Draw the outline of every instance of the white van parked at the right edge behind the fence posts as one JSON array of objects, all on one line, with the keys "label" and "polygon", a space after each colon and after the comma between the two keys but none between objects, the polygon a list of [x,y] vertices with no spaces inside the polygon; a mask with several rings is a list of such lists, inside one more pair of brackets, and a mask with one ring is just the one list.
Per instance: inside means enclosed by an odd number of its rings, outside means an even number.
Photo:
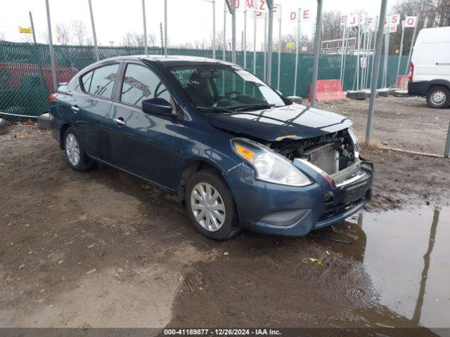
[{"label": "white van parked at the right edge behind the fence posts", "polygon": [[449,107],[450,27],[420,30],[410,67],[408,93],[426,97],[429,107]]}]

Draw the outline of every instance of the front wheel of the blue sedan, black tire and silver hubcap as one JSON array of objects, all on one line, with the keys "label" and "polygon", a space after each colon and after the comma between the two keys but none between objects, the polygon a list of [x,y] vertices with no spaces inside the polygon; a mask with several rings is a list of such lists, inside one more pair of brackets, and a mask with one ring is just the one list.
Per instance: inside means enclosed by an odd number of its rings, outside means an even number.
[{"label": "front wheel of the blue sedan, black tire and silver hubcap", "polygon": [[[203,189],[203,193],[200,192],[200,189]],[[207,195],[208,192],[212,196],[215,195],[216,199],[205,201],[203,196]],[[208,216],[208,213],[200,220],[203,223],[200,223],[195,218],[195,216],[198,218],[203,216],[202,209],[204,208],[195,206],[200,204],[206,204],[207,207],[217,206],[217,209],[209,209],[206,211],[214,216],[214,222]],[[238,212],[236,211],[233,196],[224,180],[214,170],[199,171],[189,180],[186,187],[186,211],[195,229],[210,239],[230,239],[240,230]],[[197,212],[196,215],[195,212]],[[223,220],[221,216],[223,216]]]}]

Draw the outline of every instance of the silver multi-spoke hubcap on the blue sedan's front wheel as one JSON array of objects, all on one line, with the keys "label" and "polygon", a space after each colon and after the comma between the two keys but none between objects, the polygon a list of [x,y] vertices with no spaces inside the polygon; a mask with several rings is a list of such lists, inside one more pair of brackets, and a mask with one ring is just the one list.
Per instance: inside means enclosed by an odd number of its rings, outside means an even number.
[{"label": "silver multi-spoke hubcap on the blue sedan's front wheel", "polygon": [[191,192],[191,209],[195,220],[210,232],[225,223],[225,205],[219,191],[208,183],[198,183]]}]

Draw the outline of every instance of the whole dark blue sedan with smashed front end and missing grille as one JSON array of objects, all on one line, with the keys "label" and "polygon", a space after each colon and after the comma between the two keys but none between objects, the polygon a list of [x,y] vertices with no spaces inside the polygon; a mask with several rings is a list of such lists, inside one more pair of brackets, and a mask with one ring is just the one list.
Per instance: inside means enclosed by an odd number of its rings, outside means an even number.
[{"label": "whole dark blue sedan with smashed front end and missing grille", "polygon": [[103,60],[50,96],[50,117],[72,169],[99,162],[176,192],[212,239],[241,227],[304,235],[371,199],[351,120],[291,103],[229,62]]}]

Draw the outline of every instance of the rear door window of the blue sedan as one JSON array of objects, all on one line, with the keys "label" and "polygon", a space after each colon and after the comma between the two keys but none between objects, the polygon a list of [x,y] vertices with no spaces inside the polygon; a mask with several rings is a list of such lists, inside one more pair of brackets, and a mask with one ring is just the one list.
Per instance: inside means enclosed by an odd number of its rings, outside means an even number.
[{"label": "rear door window of the blue sedan", "polygon": [[105,98],[111,98],[119,65],[105,65],[84,74],[82,86],[84,91]]}]

